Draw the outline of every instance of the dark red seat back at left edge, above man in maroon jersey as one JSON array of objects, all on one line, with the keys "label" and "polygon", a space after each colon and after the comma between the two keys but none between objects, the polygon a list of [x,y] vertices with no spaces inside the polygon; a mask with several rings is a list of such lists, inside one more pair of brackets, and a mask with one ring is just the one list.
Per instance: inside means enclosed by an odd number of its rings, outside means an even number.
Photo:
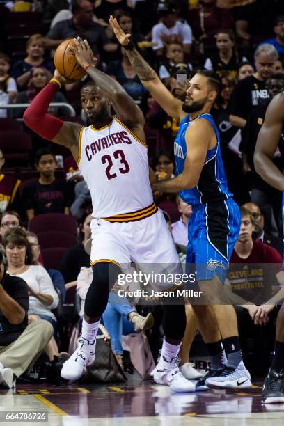
[{"label": "dark red seat back at left edge, above man in maroon jersey", "polygon": [[29,164],[31,152],[29,134],[20,130],[5,130],[0,133],[0,139],[7,167]]}]

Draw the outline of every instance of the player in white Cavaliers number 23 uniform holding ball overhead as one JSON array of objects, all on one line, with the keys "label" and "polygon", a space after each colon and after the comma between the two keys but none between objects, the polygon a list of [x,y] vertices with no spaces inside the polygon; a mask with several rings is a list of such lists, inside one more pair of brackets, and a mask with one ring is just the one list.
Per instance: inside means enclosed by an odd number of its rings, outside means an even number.
[{"label": "player in white Cavaliers number 23 uniform holding ball overhead", "polygon": [[[93,282],[85,303],[79,347],[65,362],[61,376],[76,380],[95,358],[95,338],[118,274],[135,262],[167,264],[180,271],[178,254],[161,211],[153,203],[149,181],[143,113],[118,82],[94,65],[88,42],[75,40],[77,61],[91,81],[81,89],[88,127],[49,116],[54,94],[66,81],[56,70],[24,113],[26,125],[45,139],[69,148],[77,160],[93,202],[91,265]],[[116,111],[112,116],[111,106]],[[173,284],[160,286],[168,290]],[[183,300],[182,300],[183,302]],[[174,319],[174,321],[173,321]],[[178,368],[178,352],[186,317],[184,304],[164,305],[165,338],[154,379],[176,392],[191,392],[194,384]]]}]

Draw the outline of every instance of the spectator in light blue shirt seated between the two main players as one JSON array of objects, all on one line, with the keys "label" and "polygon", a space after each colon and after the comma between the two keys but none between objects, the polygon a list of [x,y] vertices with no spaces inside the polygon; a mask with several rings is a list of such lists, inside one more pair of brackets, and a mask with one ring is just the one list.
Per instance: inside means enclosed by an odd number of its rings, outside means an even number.
[{"label": "spectator in light blue shirt seated between the two main players", "polygon": [[178,211],[181,213],[180,220],[172,223],[172,235],[175,244],[181,244],[187,247],[188,243],[188,224],[192,214],[192,207],[185,203],[180,196],[177,196]]}]

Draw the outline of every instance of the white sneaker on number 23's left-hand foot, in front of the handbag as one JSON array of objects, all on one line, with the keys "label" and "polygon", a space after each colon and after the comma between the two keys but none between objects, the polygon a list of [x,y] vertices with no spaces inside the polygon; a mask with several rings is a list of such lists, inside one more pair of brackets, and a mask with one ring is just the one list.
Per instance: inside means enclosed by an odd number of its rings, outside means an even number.
[{"label": "white sneaker on number 23's left-hand foot, in front of the handbag", "polygon": [[95,339],[90,342],[81,337],[76,351],[63,364],[61,377],[66,380],[77,380],[83,375],[86,367],[93,364],[94,361]]}]

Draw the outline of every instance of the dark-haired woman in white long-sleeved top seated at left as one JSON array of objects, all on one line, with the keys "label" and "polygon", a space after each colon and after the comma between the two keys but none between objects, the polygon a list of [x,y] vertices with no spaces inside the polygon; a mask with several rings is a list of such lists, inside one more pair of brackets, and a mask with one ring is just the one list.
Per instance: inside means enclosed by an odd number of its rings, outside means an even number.
[{"label": "dark-haired woman in white long-sleeved top seated at left", "polygon": [[[3,238],[10,276],[26,281],[29,291],[29,323],[45,319],[52,324],[56,333],[56,318],[52,313],[58,305],[58,295],[47,271],[40,265],[31,265],[33,256],[26,232],[21,228],[8,230]],[[58,356],[58,346],[52,337],[46,347],[49,360]]]}]

